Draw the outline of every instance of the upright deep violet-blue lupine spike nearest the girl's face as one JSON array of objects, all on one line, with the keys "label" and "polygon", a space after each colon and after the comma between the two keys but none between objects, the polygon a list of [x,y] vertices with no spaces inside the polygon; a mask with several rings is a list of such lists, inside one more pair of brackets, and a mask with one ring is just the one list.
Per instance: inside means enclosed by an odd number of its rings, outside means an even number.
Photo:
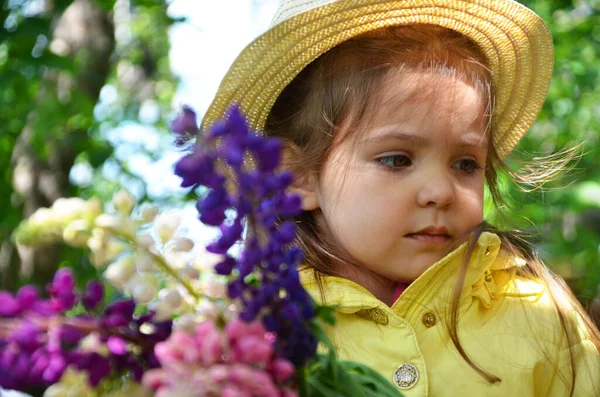
[{"label": "upright deep violet-blue lupine spike nearest the girl's face", "polygon": [[[281,151],[279,139],[250,131],[243,113],[232,107],[194,151],[177,163],[175,173],[182,178],[182,186],[209,189],[197,204],[199,217],[203,223],[220,227],[221,237],[207,250],[226,255],[215,271],[230,276],[228,295],[241,301],[240,317],[247,322],[260,319],[269,332],[277,334],[278,353],[301,365],[316,352],[311,331],[315,313],[298,277],[302,255],[293,245],[295,225],[285,221],[300,213],[301,200],[285,191],[294,176],[278,170]],[[224,166],[217,167],[217,163]],[[247,164],[255,166],[248,169]],[[226,188],[224,169],[236,182],[235,192]],[[227,216],[230,213],[235,214],[233,219]],[[236,259],[227,253],[242,238],[243,219],[247,238]],[[250,274],[260,280],[259,285],[246,282]]]}]

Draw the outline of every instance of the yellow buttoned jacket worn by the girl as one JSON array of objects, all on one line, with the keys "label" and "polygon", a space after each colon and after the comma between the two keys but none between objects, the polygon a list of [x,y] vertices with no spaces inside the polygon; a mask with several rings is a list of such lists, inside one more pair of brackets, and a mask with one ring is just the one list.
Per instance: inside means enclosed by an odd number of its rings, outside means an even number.
[{"label": "yellow buttoned jacket worn by the girl", "polygon": [[[446,319],[464,249],[425,271],[392,307],[352,281],[324,277],[325,303],[337,307],[328,332],[338,356],[369,365],[407,397],[568,396],[571,361],[555,306],[542,284],[515,275],[525,263],[501,251],[495,234],[483,233],[471,257],[458,335],[467,355],[501,381],[486,381],[455,349]],[[323,302],[314,272],[303,270],[301,280]],[[600,396],[600,355],[583,327],[577,332],[584,341],[573,346],[573,395]]]}]

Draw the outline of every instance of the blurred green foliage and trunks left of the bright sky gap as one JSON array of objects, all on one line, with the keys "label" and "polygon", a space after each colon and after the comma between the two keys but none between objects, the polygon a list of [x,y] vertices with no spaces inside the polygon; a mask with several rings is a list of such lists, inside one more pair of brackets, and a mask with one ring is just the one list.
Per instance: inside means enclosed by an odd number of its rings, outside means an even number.
[{"label": "blurred green foliage and trunks left of the bright sky gap", "polygon": [[[138,187],[138,199],[148,199],[143,179],[116,157],[106,131],[129,122],[166,135],[177,87],[168,32],[178,22],[167,15],[167,5],[0,2],[0,287],[44,283],[57,264],[89,270],[81,266],[87,261],[82,252],[57,246],[21,263],[11,235],[37,208],[68,196],[109,201],[124,183]],[[140,116],[144,107],[152,110],[150,120]],[[106,177],[108,163],[116,171]],[[87,183],[73,183],[75,165],[91,174]]]}]

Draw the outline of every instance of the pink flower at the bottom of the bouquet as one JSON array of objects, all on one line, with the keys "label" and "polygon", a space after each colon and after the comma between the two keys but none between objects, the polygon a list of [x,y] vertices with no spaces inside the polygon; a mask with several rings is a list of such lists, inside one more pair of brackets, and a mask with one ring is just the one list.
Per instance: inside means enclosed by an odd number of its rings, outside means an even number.
[{"label": "pink flower at the bottom of the bouquet", "polygon": [[275,340],[260,323],[230,321],[220,330],[212,321],[193,335],[176,331],[154,351],[161,368],[142,383],[156,396],[295,397],[285,382],[294,366],[274,354]]}]

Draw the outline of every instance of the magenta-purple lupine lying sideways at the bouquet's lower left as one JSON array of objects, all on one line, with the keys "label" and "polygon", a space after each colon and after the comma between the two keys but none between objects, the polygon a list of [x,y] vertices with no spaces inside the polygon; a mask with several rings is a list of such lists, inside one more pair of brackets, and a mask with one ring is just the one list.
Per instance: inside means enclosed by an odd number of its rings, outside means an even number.
[{"label": "magenta-purple lupine lying sideways at the bouquet's lower left", "polygon": [[[98,282],[88,283],[82,298],[83,306],[98,314],[65,317],[77,297],[68,269],[60,269],[47,290],[49,299],[40,297],[32,286],[21,288],[15,296],[0,291],[0,303],[6,308],[11,305],[0,321],[0,387],[23,391],[47,387],[58,382],[69,365],[86,371],[91,386],[111,373],[141,380],[145,370],[159,364],[154,346],[169,337],[171,321],[155,322],[152,312],[135,315],[132,300],[98,310],[104,296]],[[146,324],[154,329],[150,335],[141,332]],[[91,333],[108,347],[107,356],[81,348],[80,342]]]}]

